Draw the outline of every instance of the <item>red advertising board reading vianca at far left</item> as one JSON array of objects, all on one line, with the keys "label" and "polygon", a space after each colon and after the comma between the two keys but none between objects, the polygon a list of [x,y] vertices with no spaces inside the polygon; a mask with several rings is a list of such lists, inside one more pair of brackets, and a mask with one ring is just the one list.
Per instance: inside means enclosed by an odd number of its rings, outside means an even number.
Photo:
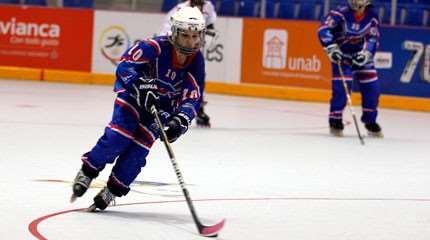
[{"label": "red advertising board reading vianca at far left", "polygon": [[91,71],[93,11],[0,7],[0,65]]}]

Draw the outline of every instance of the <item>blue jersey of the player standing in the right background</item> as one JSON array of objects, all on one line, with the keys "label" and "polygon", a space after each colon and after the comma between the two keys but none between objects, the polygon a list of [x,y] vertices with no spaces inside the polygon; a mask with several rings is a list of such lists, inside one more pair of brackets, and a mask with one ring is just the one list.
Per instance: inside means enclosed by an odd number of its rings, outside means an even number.
[{"label": "blue jersey of the player standing in the right background", "polygon": [[318,37],[324,47],[338,44],[346,56],[361,50],[374,54],[379,45],[378,16],[371,6],[360,18],[354,16],[354,11],[348,6],[331,10],[323,19]]}]

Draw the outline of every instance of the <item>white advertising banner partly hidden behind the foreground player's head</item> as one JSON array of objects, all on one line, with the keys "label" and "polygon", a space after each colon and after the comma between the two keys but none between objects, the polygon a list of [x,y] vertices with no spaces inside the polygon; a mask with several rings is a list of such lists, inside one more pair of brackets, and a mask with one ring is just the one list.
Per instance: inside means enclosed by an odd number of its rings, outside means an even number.
[{"label": "white advertising banner partly hidden behind the foreground player's head", "polygon": [[[113,74],[122,54],[136,41],[155,36],[164,14],[96,11],[92,72]],[[208,81],[235,82],[240,78],[242,20],[219,18],[217,36],[203,49]]]}]

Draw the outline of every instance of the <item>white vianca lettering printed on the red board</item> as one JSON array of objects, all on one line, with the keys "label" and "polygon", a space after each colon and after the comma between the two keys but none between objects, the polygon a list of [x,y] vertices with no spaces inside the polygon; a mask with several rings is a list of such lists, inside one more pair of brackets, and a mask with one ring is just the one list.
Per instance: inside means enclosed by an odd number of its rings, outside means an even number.
[{"label": "white vianca lettering printed on the red board", "polygon": [[17,21],[14,17],[8,21],[0,20],[1,35],[59,38],[60,32],[61,27],[57,24]]}]

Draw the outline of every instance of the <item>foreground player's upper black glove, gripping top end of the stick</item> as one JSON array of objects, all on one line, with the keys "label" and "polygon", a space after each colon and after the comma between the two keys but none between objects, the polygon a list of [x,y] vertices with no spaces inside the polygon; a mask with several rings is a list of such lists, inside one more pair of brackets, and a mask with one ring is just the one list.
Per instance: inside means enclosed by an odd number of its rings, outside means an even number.
[{"label": "foreground player's upper black glove, gripping top end of the stick", "polygon": [[158,86],[155,84],[155,79],[139,78],[133,84],[134,95],[137,105],[144,108],[146,111],[151,112],[151,107],[155,106],[157,109],[160,107],[160,98],[158,97]]}]

